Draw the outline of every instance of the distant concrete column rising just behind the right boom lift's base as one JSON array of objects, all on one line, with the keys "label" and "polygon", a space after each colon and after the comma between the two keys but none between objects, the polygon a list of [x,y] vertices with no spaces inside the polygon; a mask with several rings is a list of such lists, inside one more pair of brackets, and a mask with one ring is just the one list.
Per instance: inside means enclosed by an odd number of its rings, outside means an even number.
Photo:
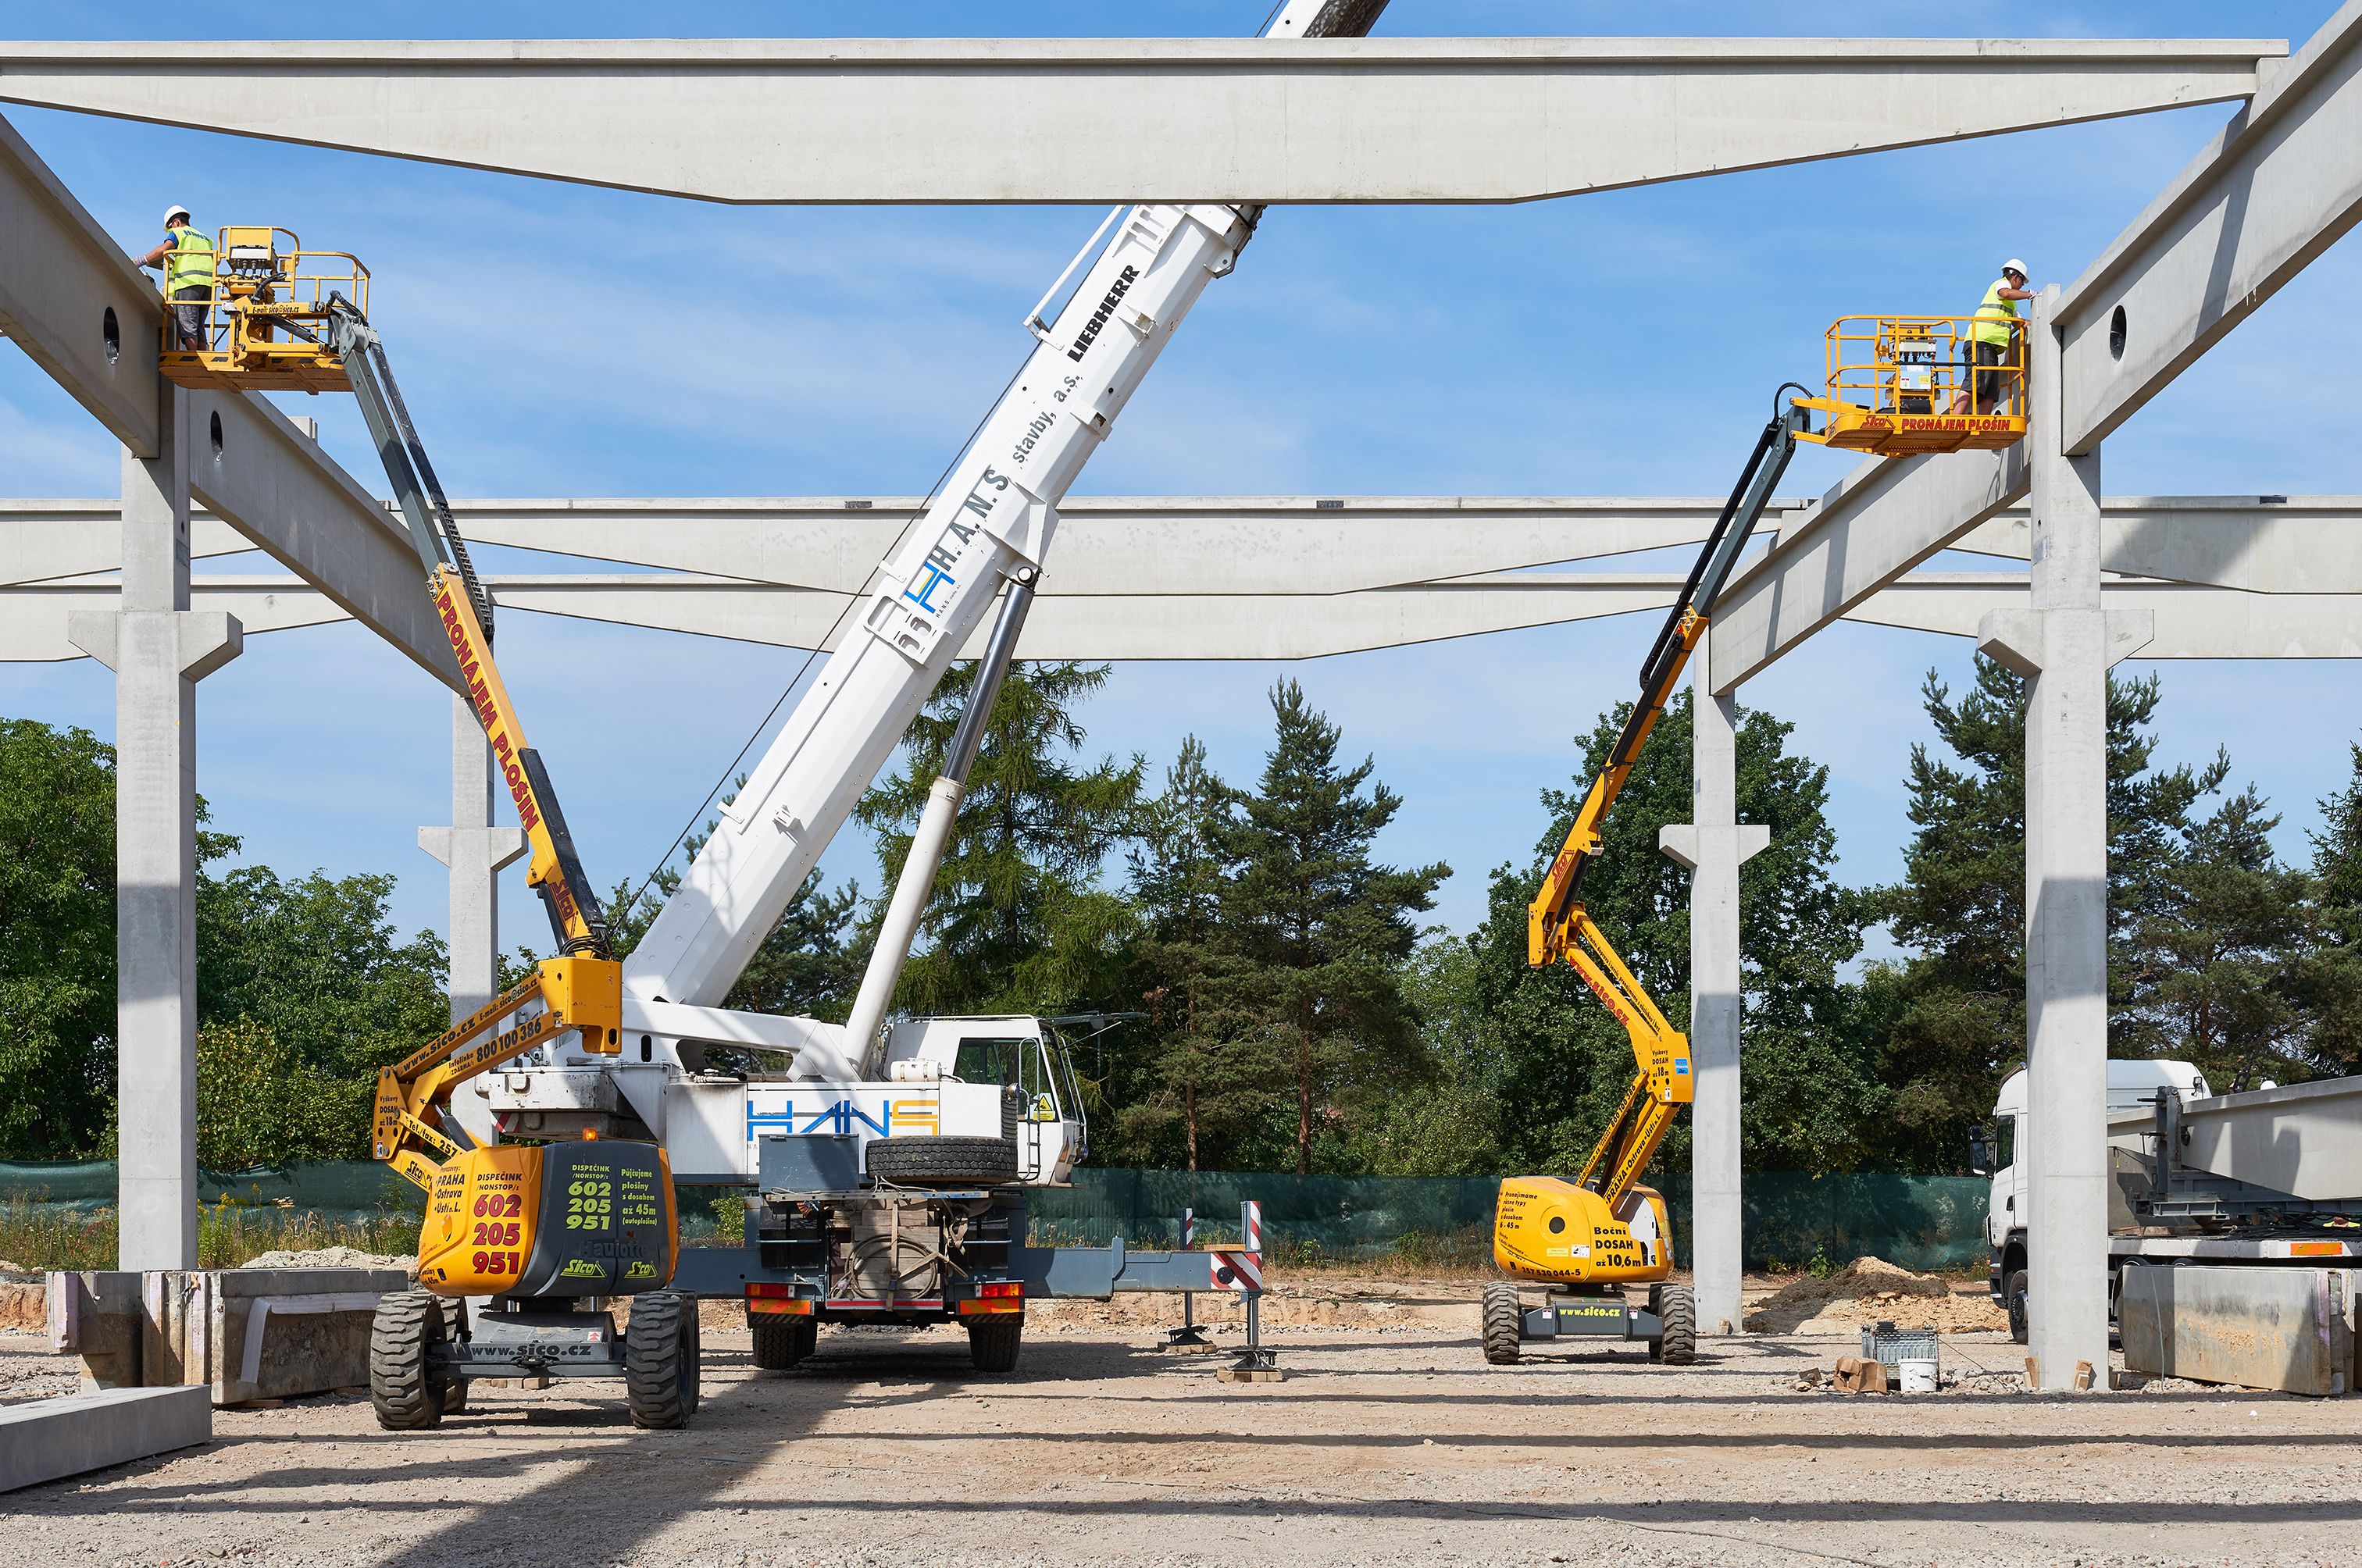
[{"label": "distant concrete column rising just behind the right boom lift's base", "polygon": [[[1712,635],[1712,633],[1708,633]],[[1658,829],[1689,869],[1689,1252],[1698,1329],[1738,1327],[1738,867],[1772,829],[1738,822],[1738,699],[1705,692],[1705,640],[1691,654],[1691,817]]]}]

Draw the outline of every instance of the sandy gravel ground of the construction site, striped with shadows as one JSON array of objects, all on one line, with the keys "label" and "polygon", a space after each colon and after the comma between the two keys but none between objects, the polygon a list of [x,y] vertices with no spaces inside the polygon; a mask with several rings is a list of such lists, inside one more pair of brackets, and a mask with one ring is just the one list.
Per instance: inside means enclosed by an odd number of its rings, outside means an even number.
[{"label": "sandy gravel ground of the construction site, striped with shadows", "polygon": [[[711,1304],[687,1431],[633,1431],[619,1386],[565,1381],[477,1384],[430,1433],[378,1431],[357,1393],[222,1410],[205,1448],[0,1500],[5,1561],[2362,1561],[2343,1398],[2036,1396],[2003,1332],[1944,1334],[1934,1396],[1797,1391],[1859,1348],[1845,1332],[1710,1337],[1694,1367],[1580,1341],[1490,1367],[1476,1289],[1292,1282],[1266,1313],[1280,1384],[1216,1381],[1235,1325],[1214,1355],[1160,1353],[1172,1296],[1037,1304],[1011,1377],[971,1372],[957,1329],[827,1329],[803,1367],[756,1372]],[[0,1334],[0,1400],[71,1377],[40,1334]]]}]

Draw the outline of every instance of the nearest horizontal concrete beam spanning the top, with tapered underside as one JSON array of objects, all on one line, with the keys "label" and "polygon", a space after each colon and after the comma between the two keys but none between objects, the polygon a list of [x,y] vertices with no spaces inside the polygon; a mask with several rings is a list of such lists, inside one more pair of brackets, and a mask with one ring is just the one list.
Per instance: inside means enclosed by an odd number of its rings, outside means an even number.
[{"label": "nearest horizontal concrete beam spanning the top, with tapered underside", "polygon": [[1531,201],[2244,99],[2279,40],[9,43],[0,99],[730,203]]}]

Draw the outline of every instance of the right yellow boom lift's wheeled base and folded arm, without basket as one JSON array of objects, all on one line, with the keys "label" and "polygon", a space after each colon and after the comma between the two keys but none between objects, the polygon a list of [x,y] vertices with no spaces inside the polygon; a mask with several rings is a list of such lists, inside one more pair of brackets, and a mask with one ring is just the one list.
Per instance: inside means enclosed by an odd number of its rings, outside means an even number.
[{"label": "right yellow boom lift's wheeled base and folded arm, without basket", "polygon": [[[1609,810],[1623,793],[1639,749],[1649,744],[1649,732],[1663,718],[1689,654],[1705,633],[1722,583],[1729,581],[1738,553],[1746,550],[1755,522],[1772,501],[1772,486],[1788,470],[1795,444],[1807,439],[1807,418],[1802,399],[1795,399],[1764,425],[1746,472],[1698,553],[1698,564],[1682,586],[1679,602],[1665,616],[1649,659],[1642,661],[1632,716],[1526,909],[1526,961],[1535,968],[1573,963],[1632,1037],[1639,1070],[1575,1181],[1512,1176],[1500,1183],[1493,1259],[1505,1270],[1554,1289],[1545,1306],[1526,1311],[1516,1285],[1486,1287],[1486,1360],[1514,1363],[1521,1339],[1561,1334],[1644,1339],[1651,1360],[1675,1365],[1689,1363],[1696,1351],[1696,1301],[1686,1287],[1663,1282],[1672,1273],[1665,1200],[1653,1188],[1639,1185],[1639,1174],[1649,1169],[1675,1110],[1689,1105],[1694,1086],[1689,1037],[1665,1020],[1583,907],[1583,874],[1599,860]],[[1620,1287],[1627,1282],[1649,1285],[1646,1311],[1625,1306]]]}]

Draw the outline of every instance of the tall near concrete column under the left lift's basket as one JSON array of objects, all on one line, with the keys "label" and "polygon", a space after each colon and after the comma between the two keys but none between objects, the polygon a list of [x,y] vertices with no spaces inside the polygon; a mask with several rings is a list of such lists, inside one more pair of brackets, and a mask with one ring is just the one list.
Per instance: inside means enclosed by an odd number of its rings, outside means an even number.
[{"label": "tall near concrete column under the left lift's basket", "polygon": [[116,673],[116,1268],[196,1268],[196,682],[236,616],[189,609],[189,394],[123,453],[123,607],[66,635]]}]

